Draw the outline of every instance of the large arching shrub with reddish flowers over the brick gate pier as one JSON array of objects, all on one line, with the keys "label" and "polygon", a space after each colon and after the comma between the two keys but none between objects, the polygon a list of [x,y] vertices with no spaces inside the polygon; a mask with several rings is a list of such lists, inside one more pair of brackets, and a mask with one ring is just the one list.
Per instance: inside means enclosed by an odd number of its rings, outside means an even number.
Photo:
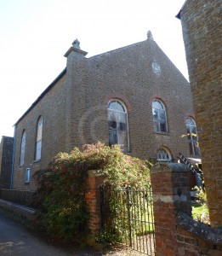
[{"label": "large arching shrub with reddish flowers over the brick gate pier", "polygon": [[105,173],[105,184],[112,188],[130,185],[141,189],[150,184],[145,162],[122,154],[117,146],[96,143],[84,145],[83,150],[74,148],[71,153],[57,154],[47,170],[34,175],[39,224],[50,235],[73,241],[87,231],[84,184],[88,170]]}]

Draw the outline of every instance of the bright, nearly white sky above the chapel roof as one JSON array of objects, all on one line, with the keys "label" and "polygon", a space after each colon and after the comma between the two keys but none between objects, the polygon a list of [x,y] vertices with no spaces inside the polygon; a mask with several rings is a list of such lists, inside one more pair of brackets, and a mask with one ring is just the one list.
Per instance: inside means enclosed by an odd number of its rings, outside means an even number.
[{"label": "bright, nearly white sky above the chapel roof", "polygon": [[180,21],[184,0],[0,0],[0,137],[65,68],[78,38],[87,56],[134,44],[151,30],[188,79]]}]

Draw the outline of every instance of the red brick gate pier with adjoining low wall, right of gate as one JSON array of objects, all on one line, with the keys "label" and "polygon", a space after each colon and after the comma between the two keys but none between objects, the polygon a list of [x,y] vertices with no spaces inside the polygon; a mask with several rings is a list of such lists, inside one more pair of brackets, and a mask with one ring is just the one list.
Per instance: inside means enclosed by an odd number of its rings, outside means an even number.
[{"label": "red brick gate pier with adjoining low wall, right of gate", "polygon": [[189,170],[170,163],[151,168],[156,255],[221,255],[222,230],[191,218]]}]

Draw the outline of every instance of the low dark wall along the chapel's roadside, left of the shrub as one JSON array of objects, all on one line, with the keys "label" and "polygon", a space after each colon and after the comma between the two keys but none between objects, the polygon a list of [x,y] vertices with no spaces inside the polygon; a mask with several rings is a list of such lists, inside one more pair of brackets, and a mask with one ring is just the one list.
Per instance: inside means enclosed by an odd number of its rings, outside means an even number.
[{"label": "low dark wall along the chapel's roadside, left of the shrub", "polygon": [[34,193],[31,190],[0,189],[0,198],[21,206],[33,207],[31,199]]}]

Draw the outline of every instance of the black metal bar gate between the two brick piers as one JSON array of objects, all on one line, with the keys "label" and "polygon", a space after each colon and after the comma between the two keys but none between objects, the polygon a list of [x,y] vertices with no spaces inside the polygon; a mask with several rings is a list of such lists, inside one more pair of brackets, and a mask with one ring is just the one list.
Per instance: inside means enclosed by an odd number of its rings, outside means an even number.
[{"label": "black metal bar gate between the two brick piers", "polygon": [[101,236],[147,255],[155,255],[151,187],[100,188]]}]

